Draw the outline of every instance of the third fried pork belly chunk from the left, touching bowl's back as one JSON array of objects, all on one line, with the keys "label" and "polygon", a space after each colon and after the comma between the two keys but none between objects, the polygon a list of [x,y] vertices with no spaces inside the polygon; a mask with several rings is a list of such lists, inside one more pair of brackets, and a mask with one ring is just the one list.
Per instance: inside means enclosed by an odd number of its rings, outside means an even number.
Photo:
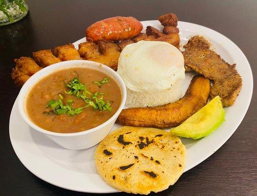
[{"label": "third fried pork belly chunk from the left, touching bowl's back", "polygon": [[81,59],[77,49],[73,44],[64,46],[57,46],[53,49],[52,53],[58,57],[61,61],[79,60]]}]

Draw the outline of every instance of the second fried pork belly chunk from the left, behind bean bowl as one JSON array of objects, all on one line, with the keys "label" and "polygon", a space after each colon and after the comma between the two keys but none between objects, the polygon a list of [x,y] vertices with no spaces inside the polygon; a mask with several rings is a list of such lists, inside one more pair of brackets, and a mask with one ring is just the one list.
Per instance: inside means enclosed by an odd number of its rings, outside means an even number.
[{"label": "second fried pork belly chunk from the left, behind bean bowl", "polygon": [[43,68],[54,63],[61,62],[59,58],[52,54],[51,49],[43,49],[37,52],[33,52],[33,58],[35,62]]}]

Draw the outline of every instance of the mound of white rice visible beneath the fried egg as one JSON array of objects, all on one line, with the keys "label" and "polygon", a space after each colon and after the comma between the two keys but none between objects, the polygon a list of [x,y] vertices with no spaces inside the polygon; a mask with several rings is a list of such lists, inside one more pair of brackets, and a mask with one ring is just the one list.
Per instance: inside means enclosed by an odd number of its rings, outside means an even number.
[{"label": "mound of white rice visible beneath the fried egg", "polygon": [[182,97],[182,81],[184,78],[179,79],[174,85],[164,91],[141,93],[131,91],[127,88],[127,101],[126,107],[154,107],[172,103],[179,100]]}]

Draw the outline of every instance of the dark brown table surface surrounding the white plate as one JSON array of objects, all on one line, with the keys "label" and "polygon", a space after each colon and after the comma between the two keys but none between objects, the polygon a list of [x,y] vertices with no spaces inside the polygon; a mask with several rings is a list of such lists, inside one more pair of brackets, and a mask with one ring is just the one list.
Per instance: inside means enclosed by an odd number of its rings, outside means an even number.
[{"label": "dark brown table surface surrounding the white plate", "polygon": [[[83,196],[55,187],[30,173],[14,153],[9,139],[9,116],[19,93],[10,77],[13,59],[52,49],[84,37],[86,27],[113,16],[156,20],[174,12],[180,21],[212,28],[230,38],[257,73],[256,0],[28,0],[29,14],[0,27],[0,196]],[[254,81],[255,86],[257,80]],[[203,163],[182,174],[158,196],[257,195],[257,91],[249,110],[231,138]],[[129,194],[109,194],[129,195]],[[152,194],[155,195],[155,194]]]}]

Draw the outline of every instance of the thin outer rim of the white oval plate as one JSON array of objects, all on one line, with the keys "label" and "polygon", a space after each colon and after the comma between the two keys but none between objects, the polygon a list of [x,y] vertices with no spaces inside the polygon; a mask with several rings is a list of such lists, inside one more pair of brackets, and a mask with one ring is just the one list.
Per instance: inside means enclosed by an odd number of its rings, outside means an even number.
[{"label": "thin outer rim of the white oval plate", "polygon": [[[157,20],[140,21],[140,22],[142,22],[142,23],[151,23],[151,22],[154,22],[154,23],[155,23],[156,21],[157,21]],[[252,95],[253,95],[253,72],[252,72],[250,63],[249,63],[248,59],[246,58],[245,54],[244,54],[243,51],[242,51],[234,42],[232,42],[228,37],[226,37],[225,35],[223,35],[223,34],[217,32],[217,31],[215,31],[215,30],[213,30],[213,29],[211,29],[211,28],[208,28],[208,27],[203,26],[203,25],[198,25],[198,24],[188,23],[188,22],[182,22],[182,21],[179,21],[179,25],[180,25],[180,24],[183,24],[183,25],[197,25],[198,27],[201,27],[201,28],[204,27],[204,28],[207,28],[208,30],[211,30],[211,31],[214,31],[215,33],[218,33],[219,36],[222,36],[223,38],[227,39],[227,40],[230,42],[230,44],[234,45],[234,47],[235,47],[238,51],[240,51],[240,53],[242,54],[242,57],[244,57],[244,61],[246,61],[246,62],[248,63],[247,68],[249,68],[249,69],[250,69],[250,72],[252,73],[251,76],[250,76],[250,80],[251,80],[251,84],[250,84],[250,85],[251,85],[251,86],[250,86],[250,87],[251,87],[251,92],[250,92],[250,100],[248,101],[248,103],[247,103],[247,105],[246,105],[246,106],[247,106],[247,107],[246,107],[247,109],[245,109],[245,111],[243,111],[243,115],[242,115],[241,118],[240,118],[240,123],[241,123],[241,122],[243,121],[243,119],[244,119],[244,117],[245,117],[245,115],[246,115],[248,109],[249,109],[249,106],[250,106],[250,103],[251,103],[251,100],[252,100]],[[77,40],[77,41],[74,42],[73,44],[78,43],[78,42],[81,41],[82,39],[84,39],[84,38],[81,38],[81,39]],[[18,98],[18,96],[17,96],[17,98]],[[13,104],[13,107],[12,107],[12,110],[11,110],[11,113],[10,113],[10,119],[9,119],[9,137],[10,137],[10,142],[11,142],[11,145],[12,145],[12,147],[13,147],[13,149],[14,149],[14,152],[15,152],[16,156],[19,158],[19,160],[22,162],[22,164],[26,167],[26,169],[27,169],[28,171],[30,171],[31,173],[33,173],[33,174],[34,174],[35,176],[37,176],[38,178],[40,178],[40,179],[42,179],[42,180],[44,180],[44,181],[46,181],[46,182],[48,182],[48,183],[50,183],[50,184],[52,184],[52,185],[54,185],[54,186],[61,187],[61,188],[64,188],[64,189],[68,189],[68,190],[72,190],[72,191],[78,191],[78,192],[84,192],[84,193],[118,193],[118,192],[119,192],[118,190],[113,190],[113,191],[108,191],[108,192],[104,192],[104,191],[98,191],[98,192],[92,191],[92,192],[90,192],[90,189],[89,189],[89,190],[85,190],[85,191],[83,191],[83,190],[77,190],[77,189],[72,189],[72,188],[70,188],[70,187],[65,187],[65,186],[61,186],[61,185],[59,185],[59,184],[55,184],[55,183],[52,182],[51,180],[43,179],[43,178],[40,177],[40,175],[38,175],[36,172],[31,171],[31,170],[30,170],[30,167],[23,161],[23,158],[22,158],[21,154],[17,153],[17,149],[16,149],[15,144],[13,143],[14,141],[12,140],[12,137],[11,137],[11,131],[10,131],[10,127],[11,127],[11,116],[12,116],[13,110],[14,110],[14,108],[15,108],[15,104],[17,104],[17,98],[16,98],[16,100],[15,100],[15,102],[14,102],[14,104]],[[215,147],[215,148],[216,148],[215,151],[218,150],[220,147],[222,147],[222,146],[230,139],[231,135],[237,130],[237,128],[238,128],[238,126],[240,125],[240,123],[238,123],[238,125],[236,125],[237,127],[235,128],[235,130],[234,130],[234,131],[231,131],[230,134],[229,134],[229,136],[226,137],[226,139],[224,139],[221,143],[219,143],[219,145],[217,145],[217,146]],[[213,154],[213,153],[212,153],[212,154]],[[188,170],[190,170],[190,169],[194,168],[195,166],[199,165],[200,163],[202,163],[204,160],[206,160],[206,159],[207,159],[209,156],[211,156],[212,154],[208,154],[208,155],[206,155],[204,158],[198,160],[195,164],[193,164],[191,167],[189,167]],[[188,171],[188,170],[186,170],[186,171]],[[186,172],[186,171],[184,171],[184,172]]]}]

